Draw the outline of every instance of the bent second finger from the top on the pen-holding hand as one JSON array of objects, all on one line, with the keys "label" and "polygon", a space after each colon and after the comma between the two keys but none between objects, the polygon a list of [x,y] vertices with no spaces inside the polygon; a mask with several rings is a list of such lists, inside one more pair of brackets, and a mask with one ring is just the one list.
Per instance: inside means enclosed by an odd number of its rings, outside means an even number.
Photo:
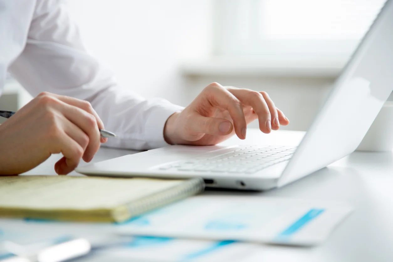
[{"label": "bent second finger from the top on the pen-holding hand", "polygon": [[92,114],[89,114],[85,110],[70,104],[62,103],[61,110],[62,114],[79,127],[89,137],[89,143],[83,154],[83,160],[90,162],[95,153],[97,153],[100,147],[101,134],[97,127],[97,121]]}]

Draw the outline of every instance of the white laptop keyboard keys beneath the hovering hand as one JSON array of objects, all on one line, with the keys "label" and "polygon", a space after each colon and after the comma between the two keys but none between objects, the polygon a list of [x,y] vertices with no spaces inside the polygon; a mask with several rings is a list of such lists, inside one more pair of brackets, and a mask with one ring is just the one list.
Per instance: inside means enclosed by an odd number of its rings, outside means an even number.
[{"label": "white laptop keyboard keys beneath the hovering hand", "polygon": [[181,172],[253,174],[266,167],[289,160],[295,150],[296,147],[238,146],[229,148],[220,155],[204,156],[202,154],[186,161],[163,165],[159,169]]}]

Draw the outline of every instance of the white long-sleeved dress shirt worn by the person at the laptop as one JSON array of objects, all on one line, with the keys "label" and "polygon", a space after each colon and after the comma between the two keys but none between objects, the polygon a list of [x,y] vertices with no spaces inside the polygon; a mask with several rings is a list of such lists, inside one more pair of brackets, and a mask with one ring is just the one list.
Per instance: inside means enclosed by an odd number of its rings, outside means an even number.
[{"label": "white long-sleeved dress shirt worn by the person at the laptop", "polygon": [[167,145],[165,122],[182,110],[118,86],[114,73],[84,49],[61,0],[0,0],[0,94],[7,71],[34,97],[48,91],[89,101],[105,129],[120,137],[109,139],[110,147]]}]

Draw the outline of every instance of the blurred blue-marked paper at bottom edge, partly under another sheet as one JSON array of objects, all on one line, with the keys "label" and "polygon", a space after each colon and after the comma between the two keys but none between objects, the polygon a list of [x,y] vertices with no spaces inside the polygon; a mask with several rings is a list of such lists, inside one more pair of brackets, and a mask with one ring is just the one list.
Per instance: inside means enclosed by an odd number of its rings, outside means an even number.
[{"label": "blurred blue-marked paper at bottom edge, partly under another sheet", "polygon": [[231,240],[208,241],[140,236],[135,237],[134,241],[127,245],[95,252],[92,258],[86,261],[230,262],[242,261],[258,248],[259,245],[256,244]]}]

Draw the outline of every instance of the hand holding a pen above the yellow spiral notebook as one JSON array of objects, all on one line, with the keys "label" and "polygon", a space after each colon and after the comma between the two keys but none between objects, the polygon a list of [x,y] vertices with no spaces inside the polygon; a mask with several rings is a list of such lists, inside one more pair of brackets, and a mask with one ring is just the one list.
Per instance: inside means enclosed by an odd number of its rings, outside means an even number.
[{"label": "hand holding a pen above the yellow spiral notebook", "polygon": [[68,174],[107,141],[99,129],[104,124],[87,101],[41,93],[0,125],[0,175],[26,172],[58,153],[55,171]]}]

